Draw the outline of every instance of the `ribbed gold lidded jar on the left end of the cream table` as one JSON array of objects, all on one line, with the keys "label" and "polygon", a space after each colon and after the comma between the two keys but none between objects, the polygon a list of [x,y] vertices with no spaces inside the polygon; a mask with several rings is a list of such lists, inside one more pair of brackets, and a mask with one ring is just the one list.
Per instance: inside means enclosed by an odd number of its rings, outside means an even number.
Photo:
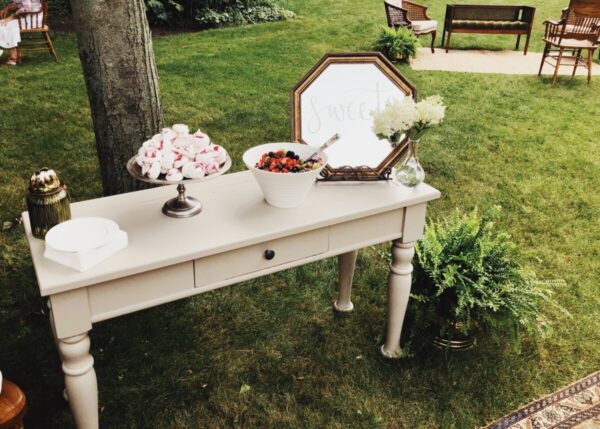
[{"label": "ribbed gold lidded jar on the left end of the cream table", "polygon": [[50,228],[71,219],[71,198],[67,186],[49,168],[31,176],[27,195],[29,222],[34,237],[44,238]]}]

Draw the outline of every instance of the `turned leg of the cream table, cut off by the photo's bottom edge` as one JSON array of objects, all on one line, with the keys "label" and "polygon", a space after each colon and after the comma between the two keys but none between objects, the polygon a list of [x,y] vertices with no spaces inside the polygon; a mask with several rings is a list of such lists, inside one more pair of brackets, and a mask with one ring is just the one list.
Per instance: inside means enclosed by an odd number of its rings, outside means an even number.
[{"label": "turned leg of the cream table, cut off by the photo's bottom edge", "polygon": [[87,332],[58,340],[71,412],[78,429],[98,429],[98,383]]}]

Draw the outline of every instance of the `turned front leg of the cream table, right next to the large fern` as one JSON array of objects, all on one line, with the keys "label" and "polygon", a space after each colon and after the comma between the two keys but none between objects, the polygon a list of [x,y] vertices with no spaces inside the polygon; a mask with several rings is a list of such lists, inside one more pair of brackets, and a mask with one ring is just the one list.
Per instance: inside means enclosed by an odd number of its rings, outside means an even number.
[{"label": "turned front leg of the cream table, right next to the large fern", "polygon": [[381,346],[383,356],[400,357],[400,334],[410,295],[412,258],[415,243],[395,240],[392,245],[392,263],[388,279],[388,320],[385,344]]}]

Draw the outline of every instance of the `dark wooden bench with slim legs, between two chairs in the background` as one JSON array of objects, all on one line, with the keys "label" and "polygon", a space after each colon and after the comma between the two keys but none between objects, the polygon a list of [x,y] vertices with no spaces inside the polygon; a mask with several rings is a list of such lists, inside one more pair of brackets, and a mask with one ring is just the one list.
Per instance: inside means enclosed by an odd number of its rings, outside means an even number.
[{"label": "dark wooden bench with slim legs, between two chairs in the background", "polygon": [[449,4],[446,6],[442,46],[445,42],[448,52],[452,33],[516,34],[516,49],[519,49],[521,35],[527,35],[524,52],[527,55],[534,16],[535,8],[530,6]]}]

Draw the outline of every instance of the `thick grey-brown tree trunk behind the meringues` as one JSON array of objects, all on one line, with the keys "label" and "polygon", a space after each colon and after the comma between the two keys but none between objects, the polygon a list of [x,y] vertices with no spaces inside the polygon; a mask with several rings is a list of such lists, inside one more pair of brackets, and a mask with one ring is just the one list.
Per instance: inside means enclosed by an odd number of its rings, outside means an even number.
[{"label": "thick grey-brown tree trunk behind the meringues", "polygon": [[140,189],[125,168],[163,125],[144,0],[71,0],[105,195]]}]

